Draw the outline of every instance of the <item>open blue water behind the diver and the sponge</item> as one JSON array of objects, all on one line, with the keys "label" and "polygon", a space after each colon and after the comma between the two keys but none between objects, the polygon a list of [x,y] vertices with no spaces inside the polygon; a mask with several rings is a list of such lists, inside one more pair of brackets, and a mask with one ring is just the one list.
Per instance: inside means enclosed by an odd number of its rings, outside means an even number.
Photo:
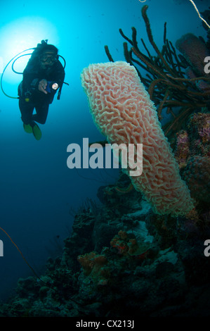
[{"label": "open blue water behind the diver and the sponge", "polygon": [[[200,11],[209,1],[195,1]],[[175,42],[192,32],[205,37],[201,20],[190,1],[147,0],[147,14],[155,42],[161,48],[164,22],[167,37]],[[20,51],[48,39],[65,57],[65,81],[60,101],[54,99],[45,125],[40,125],[42,138],[34,139],[22,128],[17,99],[0,92],[0,226],[18,244],[32,267],[41,273],[51,242],[60,242],[72,226],[72,209],[86,198],[96,202],[98,187],[114,182],[118,170],[83,170],[67,168],[67,145],[104,139],[93,124],[86,95],[81,88],[81,70],[90,63],[107,62],[107,44],[114,61],[124,60],[119,34],[121,27],[131,37],[131,27],[138,30],[151,52],[145,25],[140,15],[144,4],[138,0],[61,0],[4,1],[0,13],[0,70]],[[155,55],[155,53],[154,53]],[[29,56],[15,63],[23,70]],[[4,75],[7,94],[17,96],[21,75],[9,66]],[[13,294],[19,277],[32,275],[15,246],[0,232],[4,256],[0,257],[0,300]]]}]

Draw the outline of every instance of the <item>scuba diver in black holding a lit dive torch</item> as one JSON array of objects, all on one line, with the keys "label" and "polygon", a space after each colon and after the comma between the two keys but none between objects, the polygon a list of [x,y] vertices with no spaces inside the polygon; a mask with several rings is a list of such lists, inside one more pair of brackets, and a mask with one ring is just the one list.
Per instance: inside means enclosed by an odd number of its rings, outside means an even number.
[{"label": "scuba diver in black holding a lit dive torch", "polygon": [[[65,70],[58,60],[58,49],[41,41],[34,49],[23,79],[18,86],[19,108],[25,132],[33,133],[41,139],[41,130],[37,123],[46,123],[49,105],[59,89],[58,99],[65,78]],[[36,113],[34,112],[36,110]]]}]

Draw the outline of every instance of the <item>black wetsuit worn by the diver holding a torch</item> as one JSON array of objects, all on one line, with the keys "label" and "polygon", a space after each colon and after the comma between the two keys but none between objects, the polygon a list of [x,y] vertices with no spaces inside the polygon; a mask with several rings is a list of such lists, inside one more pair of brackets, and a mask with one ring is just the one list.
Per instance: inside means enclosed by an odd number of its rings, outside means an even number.
[{"label": "black wetsuit worn by the diver holding a torch", "polygon": [[[39,82],[46,79],[62,87],[64,77],[65,71],[60,61],[55,62],[53,67],[43,70],[36,58],[29,60],[23,72],[23,80],[18,87],[19,108],[23,123],[33,127],[34,121],[41,124],[46,122],[48,107],[53,102],[56,90],[51,89],[51,93],[44,94],[38,89]],[[34,108],[37,113],[33,115]]]}]

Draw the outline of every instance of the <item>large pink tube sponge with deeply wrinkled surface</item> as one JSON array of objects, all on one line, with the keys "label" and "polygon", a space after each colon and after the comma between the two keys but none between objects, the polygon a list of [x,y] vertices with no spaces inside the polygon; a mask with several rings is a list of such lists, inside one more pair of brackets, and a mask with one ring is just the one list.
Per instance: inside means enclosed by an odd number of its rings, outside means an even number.
[{"label": "large pink tube sponge with deeply wrinkled surface", "polygon": [[[89,65],[81,83],[95,121],[112,144],[143,144],[143,173],[131,177],[158,214],[185,215],[190,192],[157,118],[157,111],[133,65],[124,61]],[[129,169],[124,172],[129,175]]]}]

